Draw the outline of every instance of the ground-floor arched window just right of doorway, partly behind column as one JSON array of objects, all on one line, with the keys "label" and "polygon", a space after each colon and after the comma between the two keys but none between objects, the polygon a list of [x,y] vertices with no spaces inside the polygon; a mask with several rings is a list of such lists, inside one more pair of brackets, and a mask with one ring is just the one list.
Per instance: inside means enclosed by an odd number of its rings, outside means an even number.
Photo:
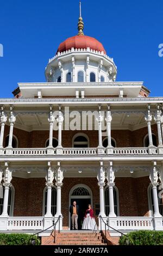
[{"label": "ground-floor arched window just right of doorway, partly behind column", "polygon": [[[109,203],[109,187],[107,186],[104,190],[105,193],[105,214],[109,216],[110,203]],[[116,216],[119,216],[119,200],[118,200],[118,189],[113,187],[113,196],[114,196],[114,212]]]}]

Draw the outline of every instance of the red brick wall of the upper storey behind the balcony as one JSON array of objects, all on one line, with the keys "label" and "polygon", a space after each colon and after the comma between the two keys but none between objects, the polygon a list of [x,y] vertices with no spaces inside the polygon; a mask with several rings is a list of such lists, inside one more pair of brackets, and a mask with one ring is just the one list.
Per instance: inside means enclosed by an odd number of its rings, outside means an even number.
[{"label": "red brick wall of the upper storey behind the balcony", "polygon": [[[62,146],[72,147],[72,138],[78,133],[85,133],[90,140],[90,147],[98,146],[98,131],[62,131]],[[157,126],[152,125],[152,132],[157,137]],[[136,131],[130,130],[112,130],[111,136],[116,140],[117,147],[143,147],[143,138],[147,135],[147,127]],[[5,126],[5,137],[9,134],[9,126]],[[27,132],[14,128],[14,135],[18,138],[20,148],[44,148],[49,131],[32,131]],[[58,138],[58,131],[53,131],[53,137]],[[105,137],[103,137],[104,139]],[[4,143],[3,143],[4,144]]]}]

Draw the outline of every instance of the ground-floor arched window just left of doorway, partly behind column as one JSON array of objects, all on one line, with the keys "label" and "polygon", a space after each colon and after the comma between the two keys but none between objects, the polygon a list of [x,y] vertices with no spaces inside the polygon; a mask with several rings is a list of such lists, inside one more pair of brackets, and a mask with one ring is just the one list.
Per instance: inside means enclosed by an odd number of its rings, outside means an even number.
[{"label": "ground-floor arched window just left of doorway, partly behind column", "polygon": [[[52,200],[51,200],[51,211],[54,216],[57,212],[57,191],[55,187],[52,187]],[[43,216],[47,211],[47,187],[43,190]]]}]

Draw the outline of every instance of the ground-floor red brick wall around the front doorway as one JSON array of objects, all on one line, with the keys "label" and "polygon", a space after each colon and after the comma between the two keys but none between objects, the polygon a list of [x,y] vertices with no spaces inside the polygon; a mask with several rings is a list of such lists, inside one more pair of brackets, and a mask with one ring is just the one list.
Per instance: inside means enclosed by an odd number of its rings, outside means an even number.
[{"label": "ground-floor red brick wall around the front doorway", "polygon": [[[44,178],[22,179],[14,177],[14,216],[42,216]],[[148,216],[147,188],[149,177],[116,178],[119,192],[120,216]],[[74,185],[85,184],[92,191],[93,209],[99,204],[99,187],[96,178],[64,178],[61,188],[61,212],[63,227],[68,228],[69,194]],[[97,218],[97,216],[96,216]]]}]

